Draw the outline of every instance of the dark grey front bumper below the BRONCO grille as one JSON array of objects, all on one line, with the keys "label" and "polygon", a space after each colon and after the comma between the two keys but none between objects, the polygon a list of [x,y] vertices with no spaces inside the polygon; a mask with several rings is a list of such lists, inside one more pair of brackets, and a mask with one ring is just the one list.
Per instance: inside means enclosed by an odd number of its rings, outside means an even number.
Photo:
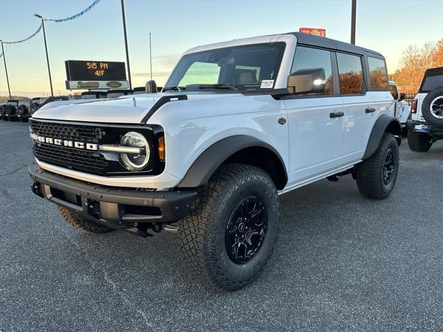
[{"label": "dark grey front bumper below the BRONCO grille", "polygon": [[84,218],[110,228],[134,228],[139,223],[172,223],[186,216],[195,191],[141,191],[108,187],[29,166],[33,192]]}]

